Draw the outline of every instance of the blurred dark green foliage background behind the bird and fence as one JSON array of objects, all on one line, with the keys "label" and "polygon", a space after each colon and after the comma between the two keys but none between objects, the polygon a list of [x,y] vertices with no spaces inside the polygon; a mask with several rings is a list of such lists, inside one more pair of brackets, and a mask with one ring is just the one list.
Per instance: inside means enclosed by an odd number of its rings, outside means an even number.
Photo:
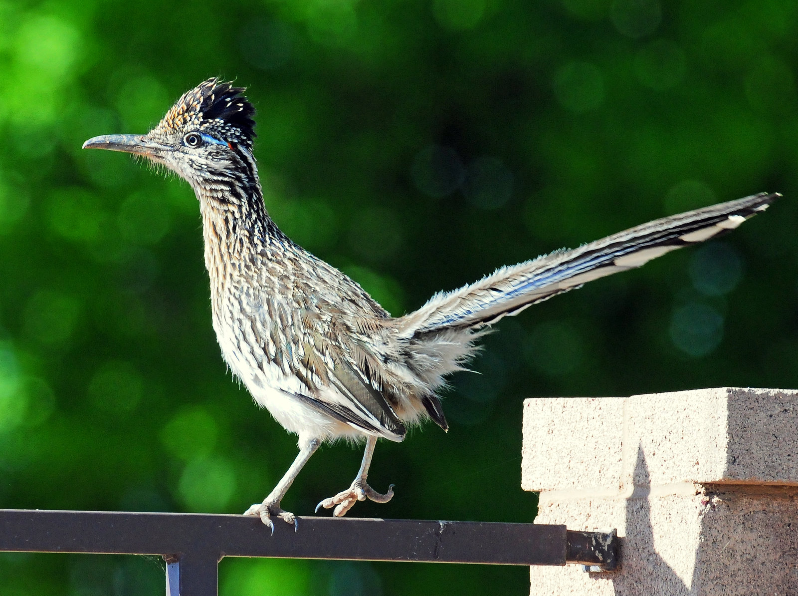
[{"label": "blurred dark green foliage background behind the bird and fence", "polygon": [[[211,76],[259,110],[278,224],[394,315],[501,264],[786,195],[721,241],[503,320],[482,374],[452,381],[448,435],[381,443],[369,480],[397,495],[354,515],[531,521],[527,396],[796,387],[796,57],[794,0],[0,0],[0,507],[239,513],[294,458],[219,356],[188,185],[81,151]],[[325,447],[284,506],[312,514],[360,457]],[[523,567],[220,573],[243,596],[528,592]],[[0,555],[4,595],[163,582],[146,558]]]}]

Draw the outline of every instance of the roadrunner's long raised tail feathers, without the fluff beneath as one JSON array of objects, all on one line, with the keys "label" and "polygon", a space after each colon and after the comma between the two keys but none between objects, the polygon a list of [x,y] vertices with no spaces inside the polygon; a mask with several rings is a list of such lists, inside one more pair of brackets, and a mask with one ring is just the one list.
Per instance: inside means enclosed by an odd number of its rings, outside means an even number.
[{"label": "roadrunner's long raised tail feathers, without the fluff beneath", "polygon": [[640,267],[666,252],[720,236],[764,211],[780,196],[760,193],[664,217],[579,248],[502,267],[475,284],[436,294],[397,323],[409,340],[447,330],[481,328],[588,281]]}]

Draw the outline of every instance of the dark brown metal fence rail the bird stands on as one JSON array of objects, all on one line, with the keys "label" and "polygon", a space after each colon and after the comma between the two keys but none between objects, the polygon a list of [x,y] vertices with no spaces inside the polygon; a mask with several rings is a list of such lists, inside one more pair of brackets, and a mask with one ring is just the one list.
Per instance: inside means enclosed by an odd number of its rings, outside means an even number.
[{"label": "dark brown metal fence rail the bird stands on", "polygon": [[565,565],[613,569],[613,533],[532,523],[244,515],[0,510],[0,551],[160,554],[168,596],[211,596],[223,557]]}]

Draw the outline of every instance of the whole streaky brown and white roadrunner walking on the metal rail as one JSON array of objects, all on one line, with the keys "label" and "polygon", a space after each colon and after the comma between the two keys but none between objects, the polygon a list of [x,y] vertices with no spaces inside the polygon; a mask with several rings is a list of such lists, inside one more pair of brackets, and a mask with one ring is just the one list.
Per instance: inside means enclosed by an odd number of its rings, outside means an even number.
[{"label": "whole streaky brown and white roadrunner walking on the metal rail", "polygon": [[255,109],[243,90],[211,78],[180,97],[148,133],[94,137],[83,146],[148,157],[196,193],[224,360],[255,401],[298,435],[299,455],[286,475],[246,512],[272,531],[274,515],[295,525],[280,501],[322,441],[365,439],[365,455],[352,485],[319,507],[335,507],[340,516],[358,500],[389,501],[393,485],[381,495],[366,483],[377,439],[401,441],[409,425],[426,418],[447,430],[437,391],[446,375],[462,370],[489,325],[720,236],[780,196],[762,193],[681,213],[503,267],[394,318],[271,221],[252,155]]}]

